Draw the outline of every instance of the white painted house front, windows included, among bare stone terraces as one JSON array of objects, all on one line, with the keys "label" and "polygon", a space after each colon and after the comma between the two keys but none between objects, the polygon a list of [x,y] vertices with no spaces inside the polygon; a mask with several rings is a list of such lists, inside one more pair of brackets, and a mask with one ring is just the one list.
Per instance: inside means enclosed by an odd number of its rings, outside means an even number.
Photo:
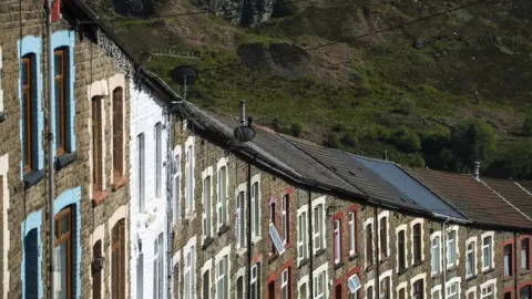
[{"label": "white painted house front, windows included, among bare stone terraces", "polygon": [[131,298],[166,298],[165,104],[130,82]]}]

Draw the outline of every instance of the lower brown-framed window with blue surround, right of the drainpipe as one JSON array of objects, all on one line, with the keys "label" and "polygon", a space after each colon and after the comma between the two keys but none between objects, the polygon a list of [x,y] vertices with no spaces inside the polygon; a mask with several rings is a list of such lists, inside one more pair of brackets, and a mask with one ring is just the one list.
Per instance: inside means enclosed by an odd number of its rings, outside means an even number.
[{"label": "lower brown-framed window with blue surround, right of the drainpipe", "polygon": [[55,298],[73,298],[72,278],[74,277],[72,267],[73,246],[72,246],[72,209],[63,208],[54,217],[55,241],[53,250],[54,285],[53,293]]}]

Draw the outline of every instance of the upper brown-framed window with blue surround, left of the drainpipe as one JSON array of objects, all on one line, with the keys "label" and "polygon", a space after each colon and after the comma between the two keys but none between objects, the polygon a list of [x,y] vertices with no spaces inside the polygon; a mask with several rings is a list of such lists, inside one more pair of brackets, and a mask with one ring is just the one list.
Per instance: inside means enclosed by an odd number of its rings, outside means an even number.
[{"label": "upper brown-framed window with blue surround, left of the drainpipe", "polygon": [[35,54],[27,54],[22,58],[21,65],[22,83],[22,162],[24,174],[39,171],[38,165],[38,90],[37,90],[37,64]]}]

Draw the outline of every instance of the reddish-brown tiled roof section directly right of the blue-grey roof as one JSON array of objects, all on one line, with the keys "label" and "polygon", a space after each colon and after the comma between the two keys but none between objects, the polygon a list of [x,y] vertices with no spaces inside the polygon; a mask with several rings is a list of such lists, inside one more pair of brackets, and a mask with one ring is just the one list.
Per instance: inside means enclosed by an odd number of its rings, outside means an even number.
[{"label": "reddish-brown tiled roof section directly right of the blue-grey roof", "polygon": [[531,220],[470,175],[401,168],[474,223],[511,229],[532,228]]}]

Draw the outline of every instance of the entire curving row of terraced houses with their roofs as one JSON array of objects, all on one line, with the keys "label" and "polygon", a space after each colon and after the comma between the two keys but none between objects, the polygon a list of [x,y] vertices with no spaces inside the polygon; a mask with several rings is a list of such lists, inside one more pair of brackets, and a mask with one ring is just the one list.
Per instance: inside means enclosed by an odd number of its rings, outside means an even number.
[{"label": "entire curving row of terraced houses with their roofs", "polygon": [[88,3],[60,12],[48,37],[42,1],[0,0],[2,298],[531,297],[531,183],[238,142]]}]

